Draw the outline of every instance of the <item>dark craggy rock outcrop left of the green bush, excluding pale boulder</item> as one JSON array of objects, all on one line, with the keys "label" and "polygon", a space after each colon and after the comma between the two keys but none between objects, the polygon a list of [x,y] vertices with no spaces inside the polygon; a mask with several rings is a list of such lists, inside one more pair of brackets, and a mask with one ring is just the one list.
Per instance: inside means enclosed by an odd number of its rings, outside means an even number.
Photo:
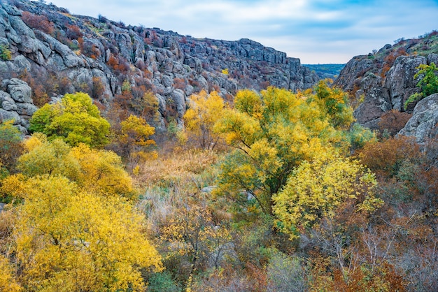
[{"label": "dark craggy rock outcrop left of the green bush, excluding pale boulder", "polygon": [[[432,37],[432,36],[430,36]],[[426,38],[429,38],[427,36]],[[334,81],[334,86],[351,92],[363,102],[355,109],[358,123],[377,129],[380,117],[389,110],[404,112],[404,102],[418,92],[414,75],[421,64],[437,63],[438,54],[409,54],[412,44],[427,40],[407,40],[385,45],[374,54],[353,57]],[[406,110],[412,112],[415,104]]]}]

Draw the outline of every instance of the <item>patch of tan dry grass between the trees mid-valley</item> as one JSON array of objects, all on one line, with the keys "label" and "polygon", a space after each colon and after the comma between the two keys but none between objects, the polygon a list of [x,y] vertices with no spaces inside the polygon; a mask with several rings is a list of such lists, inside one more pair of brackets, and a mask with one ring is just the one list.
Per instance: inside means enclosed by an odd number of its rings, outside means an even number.
[{"label": "patch of tan dry grass between the trees mid-valley", "polygon": [[206,205],[203,187],[216,180],[220,154],[211,151],[179,150],[145,161],[135,177],[141,189],[139,210],[148,218],[150,231],[158,233],[166,218],[185,205]]}]

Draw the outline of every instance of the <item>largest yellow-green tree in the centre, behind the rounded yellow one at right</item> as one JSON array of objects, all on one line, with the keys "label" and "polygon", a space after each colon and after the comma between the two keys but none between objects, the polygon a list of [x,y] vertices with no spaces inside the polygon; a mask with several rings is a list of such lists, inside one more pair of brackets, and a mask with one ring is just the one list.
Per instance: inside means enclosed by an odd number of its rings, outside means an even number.
[{"label": "largest yellow-green tree in the centre, behind the rounded yellow one at right", "polygon": [[250,194],[265,214],[271,214],[271,196],[302,161],[348,149],[344,133],[353,115],[346,94],[324,82],[316,94],[274,87],[260,94],[243,90],[234,105],[216,124],[226,143],[236,148],[222,164],[218,193],[229,194],[236,202],[244,202],[244,193]]}]

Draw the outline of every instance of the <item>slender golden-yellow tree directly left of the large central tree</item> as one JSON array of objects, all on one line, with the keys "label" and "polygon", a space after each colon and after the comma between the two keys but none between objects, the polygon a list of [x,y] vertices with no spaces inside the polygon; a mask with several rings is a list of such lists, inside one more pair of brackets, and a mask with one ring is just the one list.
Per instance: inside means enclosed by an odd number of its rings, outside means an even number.
[{"label": "slender golden-yellow tree directly left of the large central tree", "polygon": [[213,126],[222,117],[225,103],[217,92],[207,94],[204,90],[190,96],[190,108],[183,117],[185,129],[202,149],[214,149],[221,138]]}]

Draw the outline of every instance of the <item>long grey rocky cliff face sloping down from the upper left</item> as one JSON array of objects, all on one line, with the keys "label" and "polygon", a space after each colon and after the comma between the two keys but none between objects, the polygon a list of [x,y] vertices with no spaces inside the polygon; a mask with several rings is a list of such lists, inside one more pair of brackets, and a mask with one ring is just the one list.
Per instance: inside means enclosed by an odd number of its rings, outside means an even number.
[{"label": "long grey rocky cliff face sloping down from the upper left", "polygon": [[[248,39],[196,39],[27,0],[0,3],[0,51],[0,78],[26,82],[34,104],[82,91],[104,110],[117,104],[141,114],[143,96],[152,92],[158,130],[169,119],[181,124],[188,96],[202,89],[227,99],[242,88],[306,89],[319,79],[299,59]],[[0,96],[9,94],[3,89]],[[5,110],[4,100],[0,119],[19,115],[15,123],[26,127],[28,117]]]}]

